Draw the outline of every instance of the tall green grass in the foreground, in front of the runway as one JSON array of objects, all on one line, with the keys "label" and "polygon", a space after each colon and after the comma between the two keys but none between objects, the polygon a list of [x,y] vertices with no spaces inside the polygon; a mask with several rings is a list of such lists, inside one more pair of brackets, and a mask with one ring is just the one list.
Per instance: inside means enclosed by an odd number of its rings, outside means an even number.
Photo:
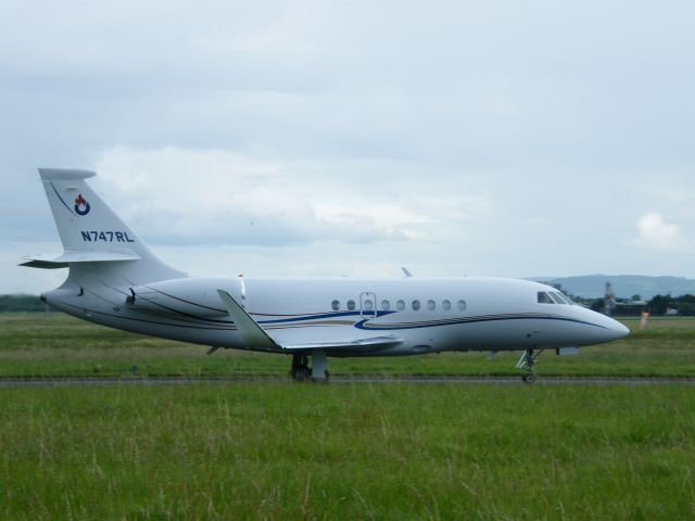
[{"label": "tall green grass in the foreground, in front of the runway", "polygon": [[695,517],[695,389],[1,390],[1,519]]}]

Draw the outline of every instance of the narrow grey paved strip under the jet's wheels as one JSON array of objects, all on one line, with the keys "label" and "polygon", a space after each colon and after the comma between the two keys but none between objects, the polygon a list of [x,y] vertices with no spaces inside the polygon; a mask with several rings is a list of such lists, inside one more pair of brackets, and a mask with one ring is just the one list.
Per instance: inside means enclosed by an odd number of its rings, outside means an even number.
[{"label": "narrow grey paved strip under the jet's wheels", "polygon": [[[115,385],[208,385],[229,383],[290,383],[290,377],[162,377],[162,378],[30,378],[0,379],[2,387],[70,387],[70,386],[115,386]],[[464,376],[336,376],[330,383],[369,384],[494,384],[525,385],[520,377],[464,377]],[[606,377],[539,377],[533,385],[690,385],[695,386],[695,378],[606,378]]]}]

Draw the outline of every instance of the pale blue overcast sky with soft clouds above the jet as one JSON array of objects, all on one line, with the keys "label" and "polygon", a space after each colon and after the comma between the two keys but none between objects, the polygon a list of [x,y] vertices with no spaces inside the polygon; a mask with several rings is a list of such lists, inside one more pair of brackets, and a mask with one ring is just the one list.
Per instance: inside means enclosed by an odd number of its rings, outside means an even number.
[{"label": "pale blue overcast sky with soft clouds above the jet", "polygon": [[0,293],[38,166],[197,276],[695,277],[692,1],[0,3]]}]

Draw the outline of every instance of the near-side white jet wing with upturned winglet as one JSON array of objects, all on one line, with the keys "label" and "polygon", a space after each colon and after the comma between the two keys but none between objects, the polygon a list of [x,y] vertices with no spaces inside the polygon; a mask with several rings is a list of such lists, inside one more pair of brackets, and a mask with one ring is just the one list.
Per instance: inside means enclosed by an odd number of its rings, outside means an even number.
[{"label": "near-side white jet wing with upturned winglet", "polygon": [[268,351],[311,351],[326,350],[337,353],[343,352],[369,352],[380,351],[402,342],[394,335],[370,336],[365,339],[355,339],[352,341],[329,341],[329,342],[307,342],[303,344],[279,344],[264,329],[258,326],[251,315],[249,315],[235,298],[224,290],[217,290],[217,294],[223,304],[227,308],[229,316],[237,326],[239,334],[243,339],[247,346],[252,348],[265,348]]}]

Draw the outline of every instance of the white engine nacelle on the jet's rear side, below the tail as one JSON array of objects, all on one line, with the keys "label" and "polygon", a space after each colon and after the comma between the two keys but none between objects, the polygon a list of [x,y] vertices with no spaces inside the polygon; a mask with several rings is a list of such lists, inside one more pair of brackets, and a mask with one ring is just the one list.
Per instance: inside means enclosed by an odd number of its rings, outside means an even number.
[{"label": "white engine nacelle on the jet's rear side, below the tail", "polygon": [[172,279],[135,285],[129,289],[126,306],[164,315],[214,318],[228,315],[217,290],[241,296],[241,284],[235,279]]}]

